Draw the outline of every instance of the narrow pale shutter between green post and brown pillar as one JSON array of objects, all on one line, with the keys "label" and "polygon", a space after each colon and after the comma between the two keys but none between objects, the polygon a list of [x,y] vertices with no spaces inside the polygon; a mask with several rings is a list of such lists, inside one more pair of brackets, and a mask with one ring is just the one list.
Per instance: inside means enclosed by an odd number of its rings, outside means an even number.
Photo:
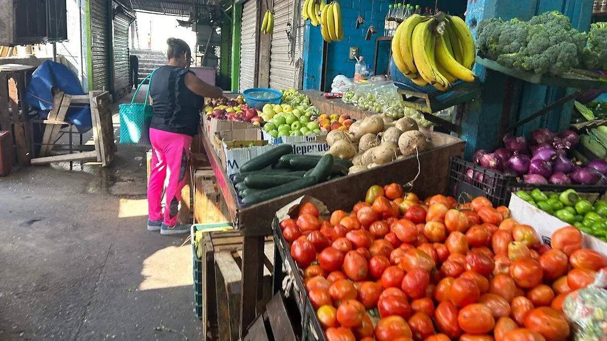
[{"label": "narrow pale shutter between green post and brown pillar", "polygon": [[240,92],[255,87],[257,62],[257,1],[249,0],[242,8],[240,31]]}]

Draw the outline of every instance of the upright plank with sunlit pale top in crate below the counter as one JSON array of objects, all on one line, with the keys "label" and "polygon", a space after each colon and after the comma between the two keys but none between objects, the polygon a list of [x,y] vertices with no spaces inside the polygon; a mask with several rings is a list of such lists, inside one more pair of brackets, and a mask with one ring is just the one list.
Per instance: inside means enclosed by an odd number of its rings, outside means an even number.
[{"label": "upright plank with sunlit pale top in crate below the counter", "polygon": [[[222,277],[223,282],[219,282],[219,277]],[[218,293],[217,320],[219,340],[237,340],[239,338],[240,296],[243,292],[243,282],[241,279],[242,273],[232,255],[225,251],[215,252],[215,283],[217,283],[215,290]],[[220,297],[219,292],[224,288],[225,296]],[[227,302],[222,302],[224,297]]]}]

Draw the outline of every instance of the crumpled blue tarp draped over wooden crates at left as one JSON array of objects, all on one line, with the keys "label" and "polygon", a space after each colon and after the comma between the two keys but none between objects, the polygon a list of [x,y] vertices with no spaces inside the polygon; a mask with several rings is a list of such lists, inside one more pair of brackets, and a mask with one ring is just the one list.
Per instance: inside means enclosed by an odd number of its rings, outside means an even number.
[{"label": "crumpled blue tarp draped over wooden crates at left", "polygon": [[[70,95],[86,95],[80,86],[78,78],[63,64],[53,61],[43,62],[32,73],[32,81],[27,87],[25,100],[30,106],[37,108],[43,118],[49,116],[53,109],[52,89],[61,90]],[[90,106],[88,104],[72,104],[67,110],[66,121],[72,123],[79,133],[92,128]]]}]

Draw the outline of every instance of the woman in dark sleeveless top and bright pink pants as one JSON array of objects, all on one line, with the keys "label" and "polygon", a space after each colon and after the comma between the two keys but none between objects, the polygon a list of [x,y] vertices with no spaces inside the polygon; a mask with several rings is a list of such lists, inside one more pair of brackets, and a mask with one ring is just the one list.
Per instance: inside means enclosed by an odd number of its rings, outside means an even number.
[{"label": "woman in dark sleeveless top and bright pink pants", "polygon": [[[169,62],[156,69],[150,81],[154,115],[150,124],[152,170],[148,184],[148,230],[181,234],[189,232],[189,225],[178,223],[177,212],[190,143],[200,125],[200,109],[205,96],[217,98],[223,92],[189,70],[192,53],[185,41],[169,38],[166,43]],[[167,178],[163,214],[161,200]]]}]

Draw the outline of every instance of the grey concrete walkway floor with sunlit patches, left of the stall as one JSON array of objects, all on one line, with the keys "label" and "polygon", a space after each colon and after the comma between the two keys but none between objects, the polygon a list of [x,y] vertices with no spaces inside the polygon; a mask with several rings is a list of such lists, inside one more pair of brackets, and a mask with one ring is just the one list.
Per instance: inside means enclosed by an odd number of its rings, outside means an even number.
[{"label": "grey concrete walkway floor with sunlit patches, left of the stall", "polygon": [[0,340],[203,339],[186,235],[146,231],[145,150],[0,178]]}]

